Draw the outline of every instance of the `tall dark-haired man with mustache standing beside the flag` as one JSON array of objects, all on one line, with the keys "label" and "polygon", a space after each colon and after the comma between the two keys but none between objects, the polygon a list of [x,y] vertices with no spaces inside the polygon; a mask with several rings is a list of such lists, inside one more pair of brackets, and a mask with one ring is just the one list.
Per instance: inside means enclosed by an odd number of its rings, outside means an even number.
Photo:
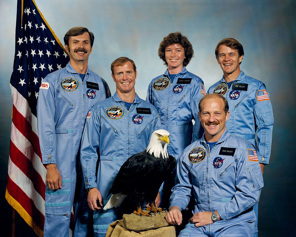
[{"label": "tall dark-haired man with mustache standing beside the flag", "polygon": [[[93,33],[84,27],[74,27],[65,34],[64,41],[70,62],[43,79],[37,108],[42,162],[47,169],[44,236],[55,237],[69,236],[76,178],[77,182],[81,179],[77,176],[79,147],[87,113],[94,103],[111,96],[104,79],[87,65]],[[78,194],[80,189],[76,188]],[[89,209],[84,215],[87,212]],[[89,220],[77,218],[74,236],[86,236]],[[82,225],[79,233],[78,223]]]}]

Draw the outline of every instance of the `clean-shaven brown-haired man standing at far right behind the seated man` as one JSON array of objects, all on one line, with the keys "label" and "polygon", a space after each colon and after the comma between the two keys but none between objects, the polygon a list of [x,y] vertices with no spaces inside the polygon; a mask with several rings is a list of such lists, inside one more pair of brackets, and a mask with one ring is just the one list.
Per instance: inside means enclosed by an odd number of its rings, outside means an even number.
[{"label": "clean-shaven brown-haired man standing at far right behind the seated man", "polygon": [[[236,39],[221,40],[215,55],[223,70],[220,81],[208,89],[208,93],[224,96],[230,108],[226,129],[234,135],[250,141],[258,151],[262,169],[269,163],[271,152],[272,127],[274,124],[272,106],[268,92],[262,81],[246,76],[240,70],[244,49]],[[258,142],[255,141],[257,131]],[[258,219],[258,204],[254,206]],[[258,220],[254,236],[258,236]]]}]

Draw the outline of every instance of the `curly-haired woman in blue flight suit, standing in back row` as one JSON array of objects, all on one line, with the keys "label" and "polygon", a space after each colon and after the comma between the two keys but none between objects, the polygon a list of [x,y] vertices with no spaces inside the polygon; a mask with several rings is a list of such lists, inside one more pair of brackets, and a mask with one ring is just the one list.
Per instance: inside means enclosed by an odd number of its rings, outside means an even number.
[{"label": "curly-haired woman in blue flight suit, standing in back row", "polygon": [[[160,43],[158,55],[168,69],[152,79],[146,100],[157,109],[162,128],[170,132],[168,153],[178,160],[184,148],[201,135],[198,103],[206,91],[202,79],[185,68],[193,56],[192,44],[186,36],[180,32],[168,34]],[[175,175],[173,172],[165,182],[162,207],[168,205]]]}]

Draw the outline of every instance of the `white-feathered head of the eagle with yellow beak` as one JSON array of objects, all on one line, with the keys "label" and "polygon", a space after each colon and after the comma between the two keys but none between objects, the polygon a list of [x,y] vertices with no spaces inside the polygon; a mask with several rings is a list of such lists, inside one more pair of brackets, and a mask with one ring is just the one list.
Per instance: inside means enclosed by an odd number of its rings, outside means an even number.
[{"label": "white-feathered head of the eagle with yellow beak", "polygon": [[170,142],[169,140],[170,133],[164,129],[159,129],[154,131],[151,134],[149,144],[147,146],[147,152],[156,158],[160,158],[162,156],[163,158],[168,158],[168,144]]}]

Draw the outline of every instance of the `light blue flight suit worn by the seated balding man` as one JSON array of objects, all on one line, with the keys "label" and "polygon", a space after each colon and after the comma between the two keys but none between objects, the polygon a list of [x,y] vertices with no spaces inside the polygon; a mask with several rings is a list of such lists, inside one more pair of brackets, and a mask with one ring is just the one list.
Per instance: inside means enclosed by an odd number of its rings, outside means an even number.
[{"label": "light blue flight suit worn by the seated balding man", "polygon": [[262,188],[261,168],[250,142],[227,130],[211,150],[205,137],[193,142],[178,161],[170,207],[186,208],[193,190],[193,214],[217,210],[222,220],[202,227],[188,223],[179,236],[253,236],[253,206]]}]

